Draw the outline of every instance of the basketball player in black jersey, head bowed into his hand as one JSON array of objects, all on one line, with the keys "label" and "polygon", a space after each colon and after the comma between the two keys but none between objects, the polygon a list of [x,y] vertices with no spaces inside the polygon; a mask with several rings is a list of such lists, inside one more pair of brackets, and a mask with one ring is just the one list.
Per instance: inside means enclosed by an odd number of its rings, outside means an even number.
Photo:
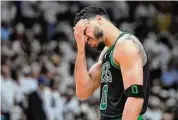
[{"label": "basketball player in black jersey, head bowed into his hand", "polygon": [[[138,38],[116,28],[99,6],[85,7],[76,15],[74,24],[77,96],[86,99],[101,87],[101,120],[142,120],[149,97],[149,63]],[[89,72],[86,43],[96,48],[105,45]]]}]

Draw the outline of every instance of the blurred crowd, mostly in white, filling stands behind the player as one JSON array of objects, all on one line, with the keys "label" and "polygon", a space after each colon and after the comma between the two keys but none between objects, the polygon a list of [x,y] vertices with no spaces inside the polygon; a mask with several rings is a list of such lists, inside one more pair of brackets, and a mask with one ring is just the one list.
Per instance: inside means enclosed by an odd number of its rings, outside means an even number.
[{"label": "blurred crowd, mostly in white, filling stands behind the player", "polygon": [[[98,89],[80,101],[73,71],[73,21],[83,7],[106,8],[136,35],[150,60],[145,120],[178,120],[178,2],[1,2],[1,120],[99,120]],[[88,68],[99,51],[86,47]]]}]

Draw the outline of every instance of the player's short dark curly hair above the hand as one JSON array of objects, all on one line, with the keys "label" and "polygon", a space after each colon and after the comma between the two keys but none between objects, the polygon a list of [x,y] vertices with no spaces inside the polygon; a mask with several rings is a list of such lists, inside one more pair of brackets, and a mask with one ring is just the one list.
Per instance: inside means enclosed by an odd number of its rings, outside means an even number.
[{"label": "player's short dark curly hair above the hand", "polygon": [[74,25],[81,19],[91,19],[96,17],[97,15],[101,15],[106,19],[110,20],[108,13],[103,7],[97,5],[90,5],[82,9],[79,13],[77,13],[77,15],[75,16]]}]

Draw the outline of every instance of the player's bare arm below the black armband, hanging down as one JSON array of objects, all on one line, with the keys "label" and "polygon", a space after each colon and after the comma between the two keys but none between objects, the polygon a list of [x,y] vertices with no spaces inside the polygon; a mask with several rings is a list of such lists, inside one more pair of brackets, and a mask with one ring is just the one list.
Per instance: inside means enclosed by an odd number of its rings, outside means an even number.
[{"label": "player's bare arm below the black armband, hanging down", "polygon": [[124,107],[122,120],[137,120],[142,110],[142,106],[142,98],[128,97]]}]

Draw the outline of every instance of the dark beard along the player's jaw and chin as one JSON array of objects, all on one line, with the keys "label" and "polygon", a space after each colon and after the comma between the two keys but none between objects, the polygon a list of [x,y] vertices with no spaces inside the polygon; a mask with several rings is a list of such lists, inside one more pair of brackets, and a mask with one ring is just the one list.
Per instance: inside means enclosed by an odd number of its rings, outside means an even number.
[{"label": "dark beard along the player's jaw and chin", "polygon": [[104,47],[105,47],[105,44],[104,44],[104,32],[101,28],[99,28],[98,26],[95,27],[94,29],[94,35],[95,35],[95,38],[99,41],[99,44],[97,45],[96,49],[97,50],[103,50]]}]

